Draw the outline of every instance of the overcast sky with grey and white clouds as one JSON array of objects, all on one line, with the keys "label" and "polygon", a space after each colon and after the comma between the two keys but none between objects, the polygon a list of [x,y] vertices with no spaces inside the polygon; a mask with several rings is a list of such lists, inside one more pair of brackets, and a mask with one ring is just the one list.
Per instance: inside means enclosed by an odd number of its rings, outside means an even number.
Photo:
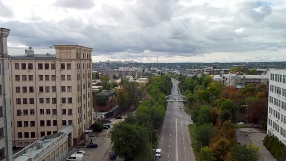
[{"label": "overcast sky with grey and white clouds", "polygon": [[78,44],[93,61],[286,61],[286,0],[0,0],[8,47]]}]

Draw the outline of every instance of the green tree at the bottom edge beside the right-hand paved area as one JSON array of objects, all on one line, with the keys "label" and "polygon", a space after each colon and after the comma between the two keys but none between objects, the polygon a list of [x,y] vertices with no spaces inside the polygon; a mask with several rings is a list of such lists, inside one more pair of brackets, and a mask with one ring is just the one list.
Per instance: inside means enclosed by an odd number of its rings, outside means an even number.
[{"label": "green tree at the bottom edge beside the right-hand paved area", "polygon": [[230,152],[230,161],[258,161],[259,147],[254,144],[238,145],[236,144]]}]

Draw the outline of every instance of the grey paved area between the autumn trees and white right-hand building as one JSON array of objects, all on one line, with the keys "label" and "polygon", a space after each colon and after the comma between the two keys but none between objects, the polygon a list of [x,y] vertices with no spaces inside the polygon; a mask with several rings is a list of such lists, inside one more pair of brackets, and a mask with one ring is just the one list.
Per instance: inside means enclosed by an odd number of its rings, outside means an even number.
[{"label": "grey paved area between the autumn trees and white right-hand building", "polygon": [[[263,145],[262,141],[264,137],[266,136],[265,132],[261,131],[260,129],[256,129],[256,128],[240,128],[240,129],[237,129],[237,134],[239,132],[240,134],[244,134],[244,136],[247,136],[250,142],[254,143],[255,146],[259,146],[259,153],[263,157],[263,159],[259,157],[259,161],[276,161],[276,159],[270,154],[267,148]],[[241,136],[237,136],[237,137],[239,141],[239,139],[241,139]],[[246,144],[247,141],[244,139],[240,143]]]}]

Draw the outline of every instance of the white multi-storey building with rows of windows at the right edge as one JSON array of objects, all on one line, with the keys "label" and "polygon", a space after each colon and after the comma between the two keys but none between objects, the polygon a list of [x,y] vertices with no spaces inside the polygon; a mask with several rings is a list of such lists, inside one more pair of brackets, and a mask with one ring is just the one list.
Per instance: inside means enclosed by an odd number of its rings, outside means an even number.
[{"label": "white multi-storey building with rows of windows at the right edge", "polygon": [[270,69],[267,134],[286,145],[286,70]]}]

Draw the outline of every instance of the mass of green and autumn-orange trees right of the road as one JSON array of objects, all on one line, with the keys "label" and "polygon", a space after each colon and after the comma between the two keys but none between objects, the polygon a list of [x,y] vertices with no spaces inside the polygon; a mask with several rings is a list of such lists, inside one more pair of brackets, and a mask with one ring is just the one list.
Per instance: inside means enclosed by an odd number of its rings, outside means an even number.
[{"label": "mass of green and autumn-orange trees right of the road", "polygon": [[192,111],[192,146],[200,161],[257,161],[254,145],[237,144],[235,125],[238,121],[267,120],[266,84],[235,90],[202,75],[182,79],[179,87]]}]

